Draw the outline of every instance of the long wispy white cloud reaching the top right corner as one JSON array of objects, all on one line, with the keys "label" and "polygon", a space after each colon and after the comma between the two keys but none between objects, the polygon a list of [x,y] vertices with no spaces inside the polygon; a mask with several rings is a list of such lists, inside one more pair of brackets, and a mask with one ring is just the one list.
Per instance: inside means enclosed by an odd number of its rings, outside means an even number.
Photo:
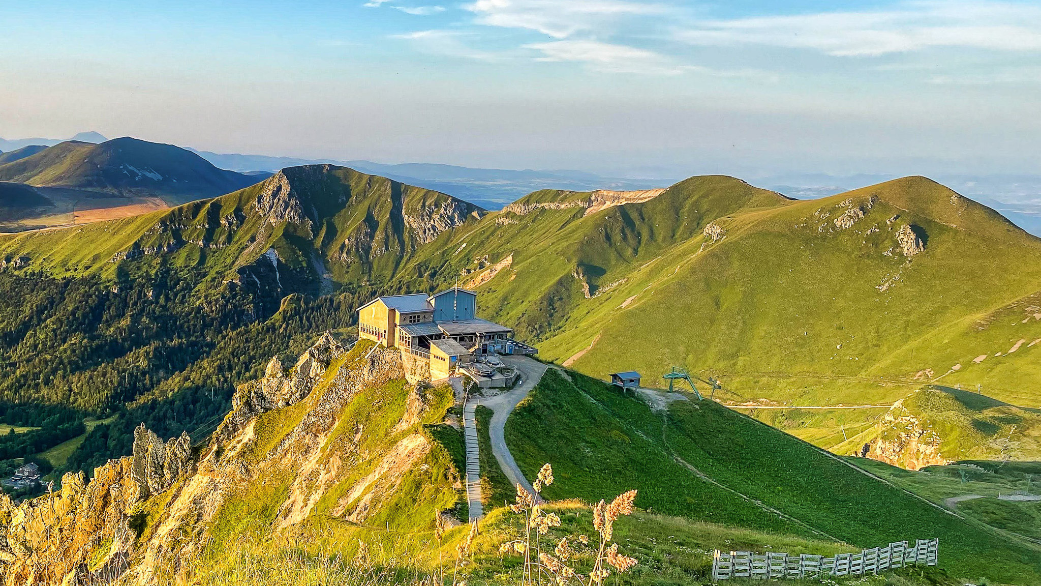
[{"label": "long wispy white cloud reaching the top right corner", "polygon": [[913,1],[885,10],[701,21],[676,38],[693,45],[767,45],[836,56],[878,56],[932,47],[1041,51],[1041,6]]}]

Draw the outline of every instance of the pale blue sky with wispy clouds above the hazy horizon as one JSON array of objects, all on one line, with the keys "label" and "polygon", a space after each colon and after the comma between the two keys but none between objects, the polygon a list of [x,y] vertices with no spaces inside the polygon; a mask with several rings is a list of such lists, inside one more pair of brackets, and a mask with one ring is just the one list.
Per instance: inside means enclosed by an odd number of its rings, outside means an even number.
[{"label": "pale blue sky with wispy clouds above the hazy horizon", "polygon": [[1041,2],[0,0],[0,137],[611,176],[1041,174]]}]

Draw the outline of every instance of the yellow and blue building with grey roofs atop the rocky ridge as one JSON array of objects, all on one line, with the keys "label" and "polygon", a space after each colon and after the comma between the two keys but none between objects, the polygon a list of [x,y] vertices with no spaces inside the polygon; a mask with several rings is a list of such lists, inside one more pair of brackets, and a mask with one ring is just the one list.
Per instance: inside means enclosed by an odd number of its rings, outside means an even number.
[{"label": "yellow and blue building with grey roofs atop the rocky ridge", "polygon": [[358,337],[429,361],[435,380],[485,357],[536,352],[513,329],[477,317],[477,293],[459,287],[377,297],[358,309]]}]

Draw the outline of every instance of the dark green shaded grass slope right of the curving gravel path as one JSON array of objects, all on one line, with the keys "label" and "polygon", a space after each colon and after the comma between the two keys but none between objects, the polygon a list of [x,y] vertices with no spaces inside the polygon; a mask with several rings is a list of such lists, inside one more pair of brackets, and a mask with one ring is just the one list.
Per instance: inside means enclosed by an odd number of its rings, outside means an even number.
[{"label": "dark green shaded grass slope right of the curving gravel path", "polygon": [[[863,547],[939,537],[941,565],[955,576],[1041,579],[1036,546],[959,518],[722,406],[674,401],[658,414],[604,383],[570,376],[574,384],[550,371],[507,423],[522,469],[533,474],[551,462],[562,479],[547,491],[552,497],[592,499],[629,485],[640,489],[637,504],[645,509],[805,536],[816,531]],[[678,459],[794,520],[734,498]]]}]

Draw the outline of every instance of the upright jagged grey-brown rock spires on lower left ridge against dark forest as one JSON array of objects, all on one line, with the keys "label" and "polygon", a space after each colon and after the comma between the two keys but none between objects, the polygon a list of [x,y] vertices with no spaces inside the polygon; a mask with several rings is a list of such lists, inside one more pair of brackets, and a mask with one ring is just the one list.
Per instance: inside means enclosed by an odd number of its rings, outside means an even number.
[{"label": "upright jagged grey-brown rock spires on lower left ridge against dark forest", "polygon": [[144,423],[134,430],[131,475],[139,491],[137,498],[163,492],[179,478],[194,472],[192,438],[187,433],[162,443]]}]

